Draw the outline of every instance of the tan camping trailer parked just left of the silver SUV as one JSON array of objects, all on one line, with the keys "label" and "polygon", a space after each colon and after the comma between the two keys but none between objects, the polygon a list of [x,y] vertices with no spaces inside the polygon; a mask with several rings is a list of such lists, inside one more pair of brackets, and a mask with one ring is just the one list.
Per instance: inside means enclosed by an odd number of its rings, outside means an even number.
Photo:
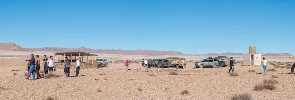
[{"label": "tan camping trailer parked just left of the silver SUV", "polygon": [[182,68],[182,59],[184,60],[184,65],[186,65],[186,60],[185,58],[179,58],[179,57],[169,57],[169,58],[166,58],[169,63],[168,63],[168,67],[169,68]]}]

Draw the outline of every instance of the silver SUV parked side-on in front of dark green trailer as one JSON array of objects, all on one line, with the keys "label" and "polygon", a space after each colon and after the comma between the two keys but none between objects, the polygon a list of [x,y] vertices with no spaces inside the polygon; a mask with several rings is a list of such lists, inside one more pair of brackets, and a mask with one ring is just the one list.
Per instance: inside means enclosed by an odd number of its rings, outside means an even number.
[{"label": "silver SUV parked side-on in front of dark green trailer", "polygon": [[200,62],[196,62],[195,66],[198,68],[203,68],[203,67],[213,67],[216,68],[219,66],[219,62],[217,59],[204,59]]}]

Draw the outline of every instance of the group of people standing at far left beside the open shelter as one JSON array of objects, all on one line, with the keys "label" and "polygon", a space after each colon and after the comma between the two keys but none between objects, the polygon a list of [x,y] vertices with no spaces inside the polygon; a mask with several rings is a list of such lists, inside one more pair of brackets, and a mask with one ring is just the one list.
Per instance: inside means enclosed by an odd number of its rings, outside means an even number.
[{"label": "group of people standing at far left beside the open shelter", "polygon": [[[35,73],[37,74],[37,79],[41,78],[41,74],[40,74],[40,59],[39,59],[39,55],[36,55],[36,58],[34,58],[34,54],[30,55],[30,60],[27,60],[29,63],[27,65],[28,68],[28,76],[26,77],[26,79],[29,79],[30,75],[32,74],[33,79],[35,78]],[[49,74],[49,73],[53,73],[55,70],[55,62],[53,60],[53,56],[50,56],[49,59],[47,58],[46,55],[43,56],[43,67],[44,67],[44,73],[45,74]],[[79,70],[80,70],[80,60],[81,58],[79,58],[76,61],[76,76],[79,75]],[[69,59],[66,57],[65,58],[65,65],[64,65],[64,73],[66,77],[70,76],[70,66],[71,63],[69,61]]]}]

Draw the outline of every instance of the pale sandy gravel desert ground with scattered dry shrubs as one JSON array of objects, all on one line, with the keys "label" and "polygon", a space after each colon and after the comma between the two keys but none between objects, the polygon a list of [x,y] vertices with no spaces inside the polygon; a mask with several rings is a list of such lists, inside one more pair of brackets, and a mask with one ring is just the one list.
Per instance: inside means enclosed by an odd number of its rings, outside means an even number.
[{"label": "pale sandy gravel desert ground with scattered dry shrubs", "polygon": [[[153,56],[110,56],[120,59],[153,58]],[[203,58],[188,57],[189,60]],[[152,68],[145,71],[139,69],[143,68],[140,64],[131,64],[132,70],[126,71],[124,63],[112,63],[108,67],[81,68],[80,75],[83,76],[80,77],[65,78],[63,69],[57,69],[54,73],[60,77],[27,80],[24,77],[24,73],[27,73],[25,59],[27,58],[18,56],[0,57],[0,100],[41,100],[48,96],[59,100],[229,100],[231,96],[241,93],[251,94],[254,100],[295,99],[293,96],[295,75],[287,74],[290,72],[287,68],[275,68],[275,72],[263,75],[260,74],[263,72],[262,66],[236,64],[235,72],[239,76],[231,77],[227,74],[229,67],[193,69],[194,64],[189,63],[185,69]],[[294,61],[284,59],[272,60]],[[271,68],[273,66],[268,65],[268,69]],[[17,69],[20,71],[11,72]],[[171,71],[177,72],[178,75],[169,75]],[[74,67],[71,68],[71,75],[74,75]],[[275,85],[276,90],[253,90],[255,85],[265,79],[271,79],[273,75],[278,76],[275,78],[279,81],[279,84]],[[102,92],[98,92],[99,89]],[[182,95],[183,90],[188,90],[190,94]]]}]

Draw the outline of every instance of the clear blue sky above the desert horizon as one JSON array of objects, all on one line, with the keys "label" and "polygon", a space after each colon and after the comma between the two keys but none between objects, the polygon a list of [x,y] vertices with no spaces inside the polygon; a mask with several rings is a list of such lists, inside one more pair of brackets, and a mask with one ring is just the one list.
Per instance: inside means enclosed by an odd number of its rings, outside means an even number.
[{"label": "clear blue sky above the desert horizon", "polygon": [[0,0],[0,42],[25,48],[295,55],[295,0]]}]

